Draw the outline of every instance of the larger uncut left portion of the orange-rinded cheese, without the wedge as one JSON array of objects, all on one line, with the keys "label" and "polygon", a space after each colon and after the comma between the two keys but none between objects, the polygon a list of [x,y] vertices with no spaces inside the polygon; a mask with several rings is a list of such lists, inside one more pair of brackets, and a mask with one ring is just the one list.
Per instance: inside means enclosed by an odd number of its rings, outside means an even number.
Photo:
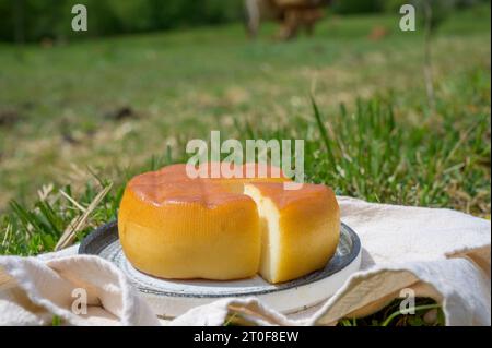
[{"label": "larger uncut left portion of the orange-rinded cheese, without the wedge", "polygon": [[258,272],[255,202],[220,185],[189,180],[183,166],[133,178],[118,214],[125,255],[162,278],[238,279]]}]

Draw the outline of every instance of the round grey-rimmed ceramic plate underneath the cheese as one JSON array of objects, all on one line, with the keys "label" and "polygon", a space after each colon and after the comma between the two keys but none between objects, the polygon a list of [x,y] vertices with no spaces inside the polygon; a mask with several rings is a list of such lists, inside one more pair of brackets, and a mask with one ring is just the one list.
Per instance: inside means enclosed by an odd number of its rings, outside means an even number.
[{"label": "round grey-rimmed ceramic plate underneath the cheese", "polygon": [[347,225],[341,225],[336,255],[325,268],[307,276],[272,285],[261,277],[232,280],[166,280],[145,275],[131,266],[118,240],[116,223],[102,226],[89,235],[79,248],[80,254],[99,255],[115,263],[151,302],[155,313],[173,317],[187,310],[221,298],[257,297],[283,313],[293,313],[326,300],[356,272],[361,264],[361,242]]}]

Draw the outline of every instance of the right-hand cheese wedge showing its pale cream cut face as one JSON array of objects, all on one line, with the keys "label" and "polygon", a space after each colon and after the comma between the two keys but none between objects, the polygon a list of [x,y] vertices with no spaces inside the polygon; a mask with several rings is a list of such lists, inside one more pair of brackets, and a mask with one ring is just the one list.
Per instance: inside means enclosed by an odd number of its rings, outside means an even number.
[{"label": "right-hand cheese wedge showing its pale cream cut face", "polygon": [[323,268],[340,236],[340,211],[331,189],[304,184],[249,183],[245,194],[258,207],[261,227],[260,275],[270,283],[292,280]]}]

